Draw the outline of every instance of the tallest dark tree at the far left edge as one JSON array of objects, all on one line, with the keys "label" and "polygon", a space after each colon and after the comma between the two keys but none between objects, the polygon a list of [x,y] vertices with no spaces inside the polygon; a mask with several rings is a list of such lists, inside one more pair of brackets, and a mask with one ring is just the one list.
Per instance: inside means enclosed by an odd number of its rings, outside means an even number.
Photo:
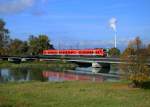
[{"label": "tallest dark tree at the far left edge", "polygon": [[6,55],[9,44],[9,31],[5,28],[5,22],[0,19],[0,55]]}]

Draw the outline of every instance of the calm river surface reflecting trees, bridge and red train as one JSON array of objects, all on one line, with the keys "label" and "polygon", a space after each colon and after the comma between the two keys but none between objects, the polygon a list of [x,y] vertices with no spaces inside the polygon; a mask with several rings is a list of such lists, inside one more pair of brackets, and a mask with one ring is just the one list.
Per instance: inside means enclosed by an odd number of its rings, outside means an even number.
[{"label": "calm river surface reflecting trees, bridge and red train", "polygon": [[[92,67],[76,67],[74,70],[51,70],[43,69],[0,69],[0,82],[14,82],[14,81],[109,81],[118,80],[119,75],[115,68],[92,68]],[[68,71],[68,72],[64,72]]]}]

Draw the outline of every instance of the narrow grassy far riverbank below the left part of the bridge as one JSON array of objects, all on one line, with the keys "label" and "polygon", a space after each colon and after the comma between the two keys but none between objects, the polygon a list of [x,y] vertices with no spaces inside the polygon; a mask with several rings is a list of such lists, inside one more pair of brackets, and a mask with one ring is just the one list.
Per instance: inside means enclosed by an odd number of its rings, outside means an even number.
[{"label": "narrow grassy far riverbank below the left part of the bridge", "polygon": [[23,62],[23,63],[11,63],[8,61],[0,61],[0,68],[38,68],[38,69],[73,69],[76,65],[73,63],[66,63],[63,61],[53,61],[53,62],[40,62],[40,61],[33,61],[33,62]]}]

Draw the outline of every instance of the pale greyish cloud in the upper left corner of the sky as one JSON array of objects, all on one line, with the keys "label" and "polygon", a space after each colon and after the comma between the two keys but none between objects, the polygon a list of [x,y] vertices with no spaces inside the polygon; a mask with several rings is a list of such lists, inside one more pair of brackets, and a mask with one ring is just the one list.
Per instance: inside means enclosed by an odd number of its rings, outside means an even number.
[{"label": "pale greyish cloud in the upper left corner of the sky", "polygon": [[17,13],[33,6],[35,0],[9,0],[0,3],[0,14]]}]

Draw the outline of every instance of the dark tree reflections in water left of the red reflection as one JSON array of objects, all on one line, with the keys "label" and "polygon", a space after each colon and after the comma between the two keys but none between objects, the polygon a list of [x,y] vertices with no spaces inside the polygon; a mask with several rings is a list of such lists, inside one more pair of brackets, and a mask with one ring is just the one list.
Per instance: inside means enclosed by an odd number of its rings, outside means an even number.
[{"label": "dark tree reflections in water left of the red reflection", "polygon": [[42,71],[37,69],[0,69],[0,82],[14,82],[14,81],[44,81]]}]

